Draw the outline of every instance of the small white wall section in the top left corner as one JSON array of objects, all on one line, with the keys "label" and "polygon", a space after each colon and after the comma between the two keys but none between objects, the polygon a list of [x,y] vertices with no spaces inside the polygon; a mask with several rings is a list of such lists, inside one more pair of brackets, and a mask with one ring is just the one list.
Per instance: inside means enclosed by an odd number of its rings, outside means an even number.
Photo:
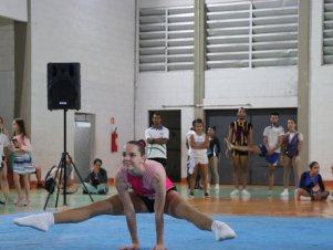
[{"label": "small white wall section in the top left corner", "polygon": [[1,0],[0,15],[3,18],[27,22],[27,0]]}]

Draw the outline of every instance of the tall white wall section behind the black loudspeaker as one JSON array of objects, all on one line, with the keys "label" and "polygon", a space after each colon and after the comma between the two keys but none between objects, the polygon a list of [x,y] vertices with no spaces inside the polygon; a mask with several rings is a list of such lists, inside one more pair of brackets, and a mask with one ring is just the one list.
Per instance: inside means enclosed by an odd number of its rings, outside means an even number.
[{"label": "tall white wall section behind the black loudspeaker", "polygon": [[[134,3],[31,1],[31,136],[34,159],[42,167],[58,163],[63,152],[63,111],[48,111],[46,64],[80,62],[80,112],[96,115],[94,153],[105,163],[108,176],[114,176],[121,154],[110,153],[111,117],[118,126],[121,146],[134,134]],[[69,111],[67,152],[72,156],[73,147],[74,111]]]}]

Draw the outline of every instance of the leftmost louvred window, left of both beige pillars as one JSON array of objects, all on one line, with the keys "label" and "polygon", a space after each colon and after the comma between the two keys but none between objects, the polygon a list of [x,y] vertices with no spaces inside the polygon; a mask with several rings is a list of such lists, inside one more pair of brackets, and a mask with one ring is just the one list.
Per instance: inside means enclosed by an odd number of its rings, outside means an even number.
[{"label": "leftmost louvred window, left of both beige pillars", "polygon": [[194,6],[139,10],[139,71],[194,69]]}]

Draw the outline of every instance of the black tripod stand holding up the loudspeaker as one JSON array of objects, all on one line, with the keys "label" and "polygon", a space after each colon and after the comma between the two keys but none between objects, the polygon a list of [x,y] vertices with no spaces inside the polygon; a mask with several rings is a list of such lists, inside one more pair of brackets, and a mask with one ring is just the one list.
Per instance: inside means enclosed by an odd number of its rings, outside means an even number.
[{"label": "black tripod stand holding up the loudspeaker", "polygon": [[[44,210],[46,209],[46,206],[48,206],[48,202],[49,202],[49,199],[50,199],[50,196],[51,194],[53,192],[55,186],[58,186],[58,190],[56,190],[56,199],[55,199],[55,208],[58,207],[58,201],[59,201],[59,195],[60,195],[60,185],[61,185],[61,180],[63,179],[63,205],[66,206],[67,205],[67,201],[66,201],[66,186],[67,186],[67,168],[71,169],[71,168],[74,168],[76,175],[79,176],[80,178],[80,181],[81,184],[83,185],[83,188],[84,190],[86,191],[86,194],[89,195],[90,199],[92,202],[94,202],[91,194],[89,192],[86,186],[84,185],[84,181],[75,166],[75,164],[73,163],[72,160],[72,157],[70,156],[70,154],[66,152],[66,114],[67,114],[67,110],[64,110],[64,150],[62,153],[62,156],[61,156],[61,159],[59,162],[59,165],[56,167],[56,170],[55,170],[55,177],[54,177],[54,181],[52,183],[51,185],[51,188],[49,189],[49,194],[48,194],[48,198],[45,200],[45,204],[44,204]],[[60,176],[58,175],[60,171]],[[59,176],[59,178],[58,178]],[[56,184],[56,179],[59,179],[59,184]]]}]

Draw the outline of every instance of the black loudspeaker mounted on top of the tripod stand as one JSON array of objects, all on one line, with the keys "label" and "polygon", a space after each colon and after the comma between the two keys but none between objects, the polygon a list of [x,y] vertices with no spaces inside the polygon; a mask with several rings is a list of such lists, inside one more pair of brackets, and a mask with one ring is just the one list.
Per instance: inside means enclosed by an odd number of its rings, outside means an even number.
[{"label": "black loudspeaker mounted on top of the tripod stand", "polygon": [[48,63],[48,108],[81,108],[80,63]]}]

